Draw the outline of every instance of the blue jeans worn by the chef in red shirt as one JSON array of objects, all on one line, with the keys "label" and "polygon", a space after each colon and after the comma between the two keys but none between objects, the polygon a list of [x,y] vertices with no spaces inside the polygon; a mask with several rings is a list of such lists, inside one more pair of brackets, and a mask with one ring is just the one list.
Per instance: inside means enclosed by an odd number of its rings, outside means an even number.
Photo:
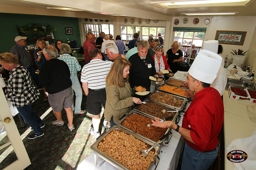
[{"label": "blue jeans worn by the chef in red shirt", "polygon": [[185,142],[181,170],[204,170],[209,169],[218,156],[220,144],[212,151],[199,152]]}]

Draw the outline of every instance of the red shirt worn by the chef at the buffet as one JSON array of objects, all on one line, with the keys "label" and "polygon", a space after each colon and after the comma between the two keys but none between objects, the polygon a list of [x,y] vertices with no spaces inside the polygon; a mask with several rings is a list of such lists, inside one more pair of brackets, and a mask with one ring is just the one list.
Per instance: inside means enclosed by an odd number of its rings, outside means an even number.
[{"label": "red shirt worn by the chef at the buffet", "polygon": [[207,87],[197,92],[182,121],[182,128],[191,130],[190,136],[195,142],[187,141],[188,145],[199,152],[215,149],[223,117],[223,101],[216,89]]}]

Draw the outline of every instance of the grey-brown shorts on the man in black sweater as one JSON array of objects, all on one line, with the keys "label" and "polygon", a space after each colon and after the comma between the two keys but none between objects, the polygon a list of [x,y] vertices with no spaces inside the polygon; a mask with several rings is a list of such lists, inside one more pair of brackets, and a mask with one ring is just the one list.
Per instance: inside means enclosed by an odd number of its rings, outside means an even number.
[{"label": "grey-brown shorts on the man in black sweater", "polygon": [[73,104],[72,88],[69,87],[60,92],[49,94],[48,101],[55,112],[61,112],[63,108],[71,107]]}]

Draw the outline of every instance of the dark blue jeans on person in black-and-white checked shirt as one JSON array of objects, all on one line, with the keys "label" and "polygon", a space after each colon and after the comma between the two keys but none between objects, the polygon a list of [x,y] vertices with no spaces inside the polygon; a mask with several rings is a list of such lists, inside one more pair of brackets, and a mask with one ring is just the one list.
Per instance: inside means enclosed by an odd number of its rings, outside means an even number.
[{"label": "dark blue jeans on person in black-and-white checked shirt", "polygon": [[31,126],[37,134],[43,133],[40,125],[43,123],[38,115],[32,112],[32,103],[23,107],[16,107],[23,119]]}]

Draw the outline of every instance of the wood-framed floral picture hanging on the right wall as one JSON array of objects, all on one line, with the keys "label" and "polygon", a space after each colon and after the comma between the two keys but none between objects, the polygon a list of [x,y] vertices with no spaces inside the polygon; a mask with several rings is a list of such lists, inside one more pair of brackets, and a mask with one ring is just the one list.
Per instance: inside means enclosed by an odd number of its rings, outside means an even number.
[{"label": "wood-framed floral picture hanging on the right wall", "polygon": [[245,31],[217,30],[215,40],[218,40],[219,44],[243,45],[246,33]]}]

